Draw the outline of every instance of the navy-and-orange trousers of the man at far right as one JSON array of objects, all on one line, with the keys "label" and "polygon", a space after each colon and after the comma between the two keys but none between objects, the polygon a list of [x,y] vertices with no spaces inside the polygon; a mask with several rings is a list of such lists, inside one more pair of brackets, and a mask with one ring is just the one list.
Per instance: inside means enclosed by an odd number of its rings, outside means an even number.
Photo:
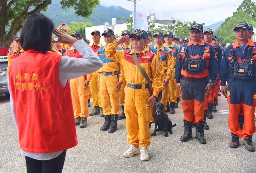
[{"label": "navy-and-orange trousers of the man at far right", "polygon": [[[256,107],[256,83],[254,81],[239,81],[229,79],[227,98],[229,104],[228,126],[232,134],[239,138],[252,136],[255,129],[254,112]],[[244,125],[243,130],[238,124],[238,114],[243,105]]]}]

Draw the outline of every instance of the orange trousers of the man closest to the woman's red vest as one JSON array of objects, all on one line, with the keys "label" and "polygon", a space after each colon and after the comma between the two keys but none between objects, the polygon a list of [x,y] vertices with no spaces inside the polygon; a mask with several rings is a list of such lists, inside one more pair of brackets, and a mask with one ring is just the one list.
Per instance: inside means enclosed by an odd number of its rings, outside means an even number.
[{"label": "orange trousers of the man closest to the woman's red vest", "polygon": [[74,110],[74,116],[77,117],[88,117],[88,98],[90,95],[90,88],[84,89],[84,76],[80,76],[70,80],[70,90],[72,105]]}]

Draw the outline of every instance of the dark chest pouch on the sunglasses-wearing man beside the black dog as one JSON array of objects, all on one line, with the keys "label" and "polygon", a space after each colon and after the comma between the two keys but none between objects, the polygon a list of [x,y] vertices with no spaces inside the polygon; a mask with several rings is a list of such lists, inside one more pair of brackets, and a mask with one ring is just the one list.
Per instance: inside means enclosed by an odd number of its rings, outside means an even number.
[{"label": "dark chest pouch on the sunglasses-wearing man beside the black dog", "polygon": [[207,69],[206,60],[203,58],[185,59],[182,64],[182,69],[187,71],[188,74],[200,74],[203,70]]}]

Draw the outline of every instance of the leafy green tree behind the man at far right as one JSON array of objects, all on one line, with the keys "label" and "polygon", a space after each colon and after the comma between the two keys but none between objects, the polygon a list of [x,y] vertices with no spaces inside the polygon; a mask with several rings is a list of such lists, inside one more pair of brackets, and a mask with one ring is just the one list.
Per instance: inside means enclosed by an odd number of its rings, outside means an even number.
[{"label": "leafy green tree behind the man at far right", "polygon": [[225,19],[214,33],[222,40],[222,44],[234,43],[236,37],[234,34],[234,27],[238,22],[246,22],[252,26],[256,26],[256,6],[251,0],[244,0],[237,8],[236,12],[233,12],[231,17]]}]

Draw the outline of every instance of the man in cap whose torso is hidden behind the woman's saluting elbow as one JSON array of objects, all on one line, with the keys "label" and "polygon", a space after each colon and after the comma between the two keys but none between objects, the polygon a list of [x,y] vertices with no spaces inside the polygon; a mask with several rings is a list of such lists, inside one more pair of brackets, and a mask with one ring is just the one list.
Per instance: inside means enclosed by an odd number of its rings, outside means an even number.
[{"label": "man in cap whose torso is hidden behind the woman's saluting elbow", "polygon": [[[100,31],[94,30],[92,33],[92,41],[93,43],[89,45],[89,47],[92,48],[92,50],[97,53],[98,49],[103,46],[103,44],[100,43]],[[100,71],[96,71],[92,73],[92,78],[90,80],[90,90],[92,93],[92,102],[93,102],[93,110],[89,113],[90,116],[100,114],[101,117],[103,116],[103,109],[100,103],[100,85],[99,85],[99,76]]]}]

